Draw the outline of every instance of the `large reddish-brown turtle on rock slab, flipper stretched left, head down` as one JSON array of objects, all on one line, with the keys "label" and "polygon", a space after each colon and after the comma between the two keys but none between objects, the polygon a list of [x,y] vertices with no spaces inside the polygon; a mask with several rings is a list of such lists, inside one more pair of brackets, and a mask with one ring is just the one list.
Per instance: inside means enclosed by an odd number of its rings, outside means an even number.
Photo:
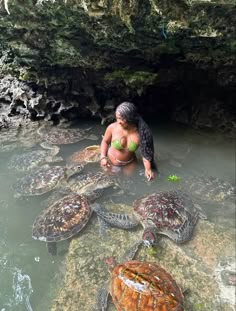
[{"label": "large reddish-brown turtle on rock slab, flipper stretched left, head down", "polygon": [[127,218],[133,225],[144,227],[143,241],[146,246],[156,243],[156,234],[168,236],[176,243],[187,242],[193,234],[198,218],[204,217],[199,207],[191,198],[181,191],[162,191],[147,194],[133,203],[133,215],[106,213],[98,211],[98,215],[109,224],[123,227]]}]

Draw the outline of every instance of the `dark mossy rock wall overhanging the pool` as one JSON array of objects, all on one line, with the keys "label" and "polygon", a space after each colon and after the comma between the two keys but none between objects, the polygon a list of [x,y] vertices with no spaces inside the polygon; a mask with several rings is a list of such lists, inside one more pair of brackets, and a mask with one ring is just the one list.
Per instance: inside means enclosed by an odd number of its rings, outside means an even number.
[{"label": "dark mossy rock wall overhanging the pool", "polygon": [[232,133],[235,28],[234,1],[2,0],[0,74],[56,97],[45,116],[83,107],[106,120],[128,99],[147,115]]}]

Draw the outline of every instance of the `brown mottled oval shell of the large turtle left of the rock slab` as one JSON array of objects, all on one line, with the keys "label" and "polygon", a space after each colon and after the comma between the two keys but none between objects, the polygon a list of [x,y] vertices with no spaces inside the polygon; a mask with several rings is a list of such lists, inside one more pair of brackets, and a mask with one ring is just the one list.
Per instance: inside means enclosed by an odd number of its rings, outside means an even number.
[{"label": "brown mottled oval shell of the large turtle left of the rock slab", "polygon": [[35,219],[32,237],[44,242],[66,240],[83,229],[92,208],[85,197],[72,193],[58,200]]}]

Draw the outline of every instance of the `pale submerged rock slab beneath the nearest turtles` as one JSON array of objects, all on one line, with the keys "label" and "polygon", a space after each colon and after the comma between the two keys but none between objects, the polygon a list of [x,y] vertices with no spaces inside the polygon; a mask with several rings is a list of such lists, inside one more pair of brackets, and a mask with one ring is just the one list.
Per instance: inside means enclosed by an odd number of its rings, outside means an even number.
[{"label": "pale submerged rock slab beneath the nearest turtles", "polygon": [[[108,204],[114,211],[131,212],[120,204]],[[66,256],[64,284],[54,300],[52,311],[92,311],[96,293],[109,279],[104,259],[115,256],[121,260],[127,248],[141,238],[142,229],[122,231],[109,229],[105,238],[98,235],[96,216],[70,243]],[[233,311],[235,287],[225,284],[224,271],[235,271],[234,232],[225,231],[208,221],[199,221],[195,235],[187,244],[175,245],[160,238],[156,254],[141,248],[136,258],[160,264],[168,270],[185,291],[185,309],[188,311]],[[108,310],[115,310],[109,300]]]}]

